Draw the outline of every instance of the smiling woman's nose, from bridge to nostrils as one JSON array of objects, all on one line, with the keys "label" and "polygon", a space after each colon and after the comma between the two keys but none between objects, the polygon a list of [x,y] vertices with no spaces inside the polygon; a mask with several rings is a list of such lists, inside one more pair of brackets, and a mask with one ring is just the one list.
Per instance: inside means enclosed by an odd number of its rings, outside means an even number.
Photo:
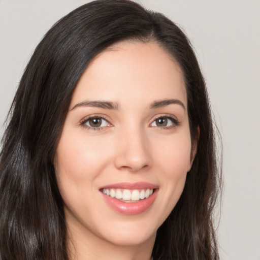
[{"label": "smiling woman's nose, from bridge to nostrils", "polygon": [[148,137],[141,129],[123,131],[117,141],[115,166],[117,169],[138,172],[152,164]]}]

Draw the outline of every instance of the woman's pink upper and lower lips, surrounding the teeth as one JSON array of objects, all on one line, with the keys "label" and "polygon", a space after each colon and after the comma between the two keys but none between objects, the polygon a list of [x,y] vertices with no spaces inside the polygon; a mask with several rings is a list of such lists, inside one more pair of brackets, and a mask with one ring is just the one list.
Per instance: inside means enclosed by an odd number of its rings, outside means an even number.
[{"label": "woman's pink upper and lower lips, surrounding the teeth", "polygon": [[[136,202],[123,202],[115,198],[111,198],[110,196],[107,196],[106,194],[102,193],[103,188],[121,188],[121,189],[154,189],[151,196],[149,196],[147,199],[139,200]],[[151,183],[147,182],[138,182],[138,183],[115,183],[112,185],[103,186],[100,188],[101,194],[105,200],[105,202],[116,212],[124,214],[124,215],[135,215],[140,214],[147,209],[150,208],[150,206],[153,204],[153,202],[156,199],[157,193],[158,193],[158,186],[153,185]]]}]

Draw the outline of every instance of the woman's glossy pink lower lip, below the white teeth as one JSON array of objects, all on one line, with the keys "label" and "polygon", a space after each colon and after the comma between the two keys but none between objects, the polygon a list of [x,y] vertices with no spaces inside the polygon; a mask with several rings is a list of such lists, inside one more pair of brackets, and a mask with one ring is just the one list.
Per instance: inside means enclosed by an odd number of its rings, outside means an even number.
[{"label": "woman's glossy pink lower lip, below the white teeth", "polygon": [[106,203],[116,212],[124,215],[135,215],[146,211],[153,204],[158,193],[158,189],[155,189],[151,196],[147,199],[139,200],[136,202],[122,202],[118,199],[111,198],[104,193],[101,193]]}]

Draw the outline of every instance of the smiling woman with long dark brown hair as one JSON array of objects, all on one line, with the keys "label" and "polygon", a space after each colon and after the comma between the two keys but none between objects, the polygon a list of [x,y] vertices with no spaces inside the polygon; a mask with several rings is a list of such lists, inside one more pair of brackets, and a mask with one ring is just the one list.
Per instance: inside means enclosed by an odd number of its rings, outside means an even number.
[{"label": "smiling woman with long dark brown hair", "polygon": [[91,2],[47,32],[0,167],[2,260],[219,258],[203,76],[183,32],[137,3]]}]

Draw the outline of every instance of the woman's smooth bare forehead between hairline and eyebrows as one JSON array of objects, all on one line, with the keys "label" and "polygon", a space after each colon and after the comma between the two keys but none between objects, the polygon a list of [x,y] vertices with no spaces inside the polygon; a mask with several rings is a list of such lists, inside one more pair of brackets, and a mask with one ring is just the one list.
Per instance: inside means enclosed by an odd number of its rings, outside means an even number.
[{"label": "woman's smooth bare forehead between hairline and eyebrows", "polygon": [[72,104],[82,99],[113,102],[181,99],[186,104],[183,73],[174,58],[155,42],[120,42],[100,54],[82,74]]}]

